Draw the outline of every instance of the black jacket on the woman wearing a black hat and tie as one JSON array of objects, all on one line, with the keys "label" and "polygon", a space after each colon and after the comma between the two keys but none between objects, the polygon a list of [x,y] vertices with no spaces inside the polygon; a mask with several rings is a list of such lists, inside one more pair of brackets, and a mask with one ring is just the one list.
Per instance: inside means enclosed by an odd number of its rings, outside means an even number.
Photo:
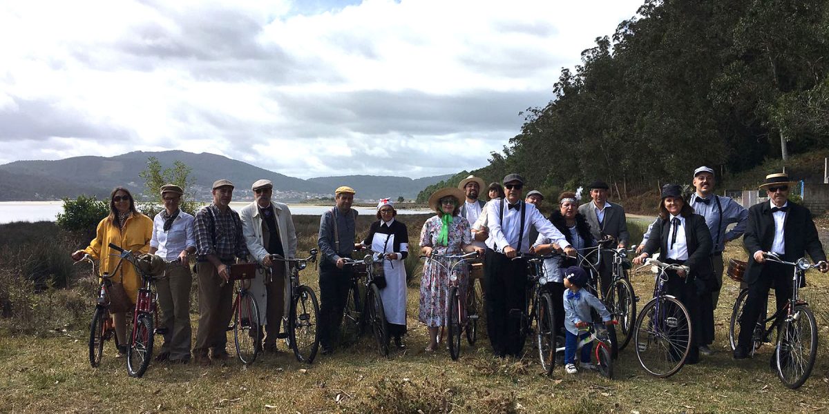
[{"label": "black jacket on the woman wearing a black hat and tie", "polygon": [[[652,257],[653,253],[659,250],[663,257],[667,257],[668,233],[670,232],[670,216],[667,220],[657,219],[656,224],[653,224],[651,233],[647,235],[647,243],[645,243],[644,251],[647,252],[648,256]],[[685,238],[688,245],[688,259],[682,264],[691,267],[691,273],[688,277],[698,277],[705,281],[707,285],[714,280],[714,265],[711,262],[711,248],[714,247],[714,243],[711,241],[708,225],[705,224],[705,217],[700,214],[691,214],[685,218]],[[712,288],[713,286],[708,287]]]}]

